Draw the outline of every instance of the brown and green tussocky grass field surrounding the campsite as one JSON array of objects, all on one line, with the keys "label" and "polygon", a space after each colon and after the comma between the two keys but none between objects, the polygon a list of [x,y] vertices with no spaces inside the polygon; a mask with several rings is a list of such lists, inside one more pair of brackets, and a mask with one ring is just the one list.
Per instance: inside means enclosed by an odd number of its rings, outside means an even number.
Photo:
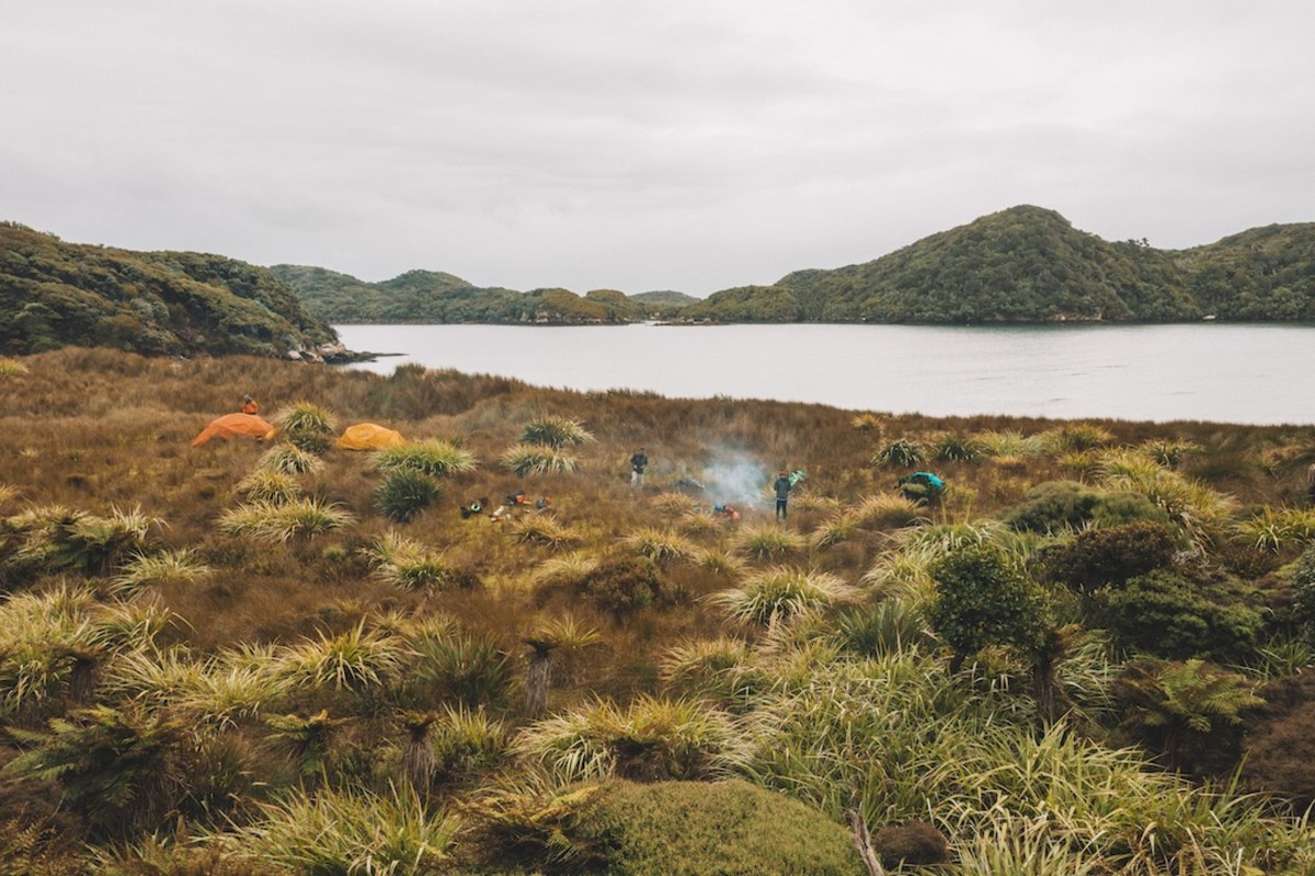
[{"label": "brown and green tussocky grass field surrounding the campsite", "polygon": [[[274,437],[189,447],[245,394]],[[1308,424],[85,349],[0,397],[0,873],[861,873],[847,813],[890,872],[1315,872]]]}]

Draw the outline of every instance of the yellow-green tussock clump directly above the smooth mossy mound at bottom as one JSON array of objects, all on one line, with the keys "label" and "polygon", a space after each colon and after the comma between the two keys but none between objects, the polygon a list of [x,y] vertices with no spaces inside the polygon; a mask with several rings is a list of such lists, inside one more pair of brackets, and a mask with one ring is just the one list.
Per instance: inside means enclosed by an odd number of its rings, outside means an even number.
[{"label": "yellow-green tussock clump directly above the smooth mossy mound at bottom", "polygon": [[629,705],[597,700],[530,725],[513,751],[556,781],[610,775],[640,781],[723,777],[747,763],[750,734],[698,700],[640,696]]}]

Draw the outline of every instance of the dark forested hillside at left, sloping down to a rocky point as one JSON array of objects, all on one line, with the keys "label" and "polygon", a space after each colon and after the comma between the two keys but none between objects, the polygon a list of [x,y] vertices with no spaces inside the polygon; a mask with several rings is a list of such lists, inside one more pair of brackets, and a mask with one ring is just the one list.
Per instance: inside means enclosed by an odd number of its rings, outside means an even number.
[{"label": "dark forested hillside at left, sloping down to a rocky point", "polygon": [[0,353],[67,345],[313,360],[343,352],[333,327],[266,268],[64,243],[0,223]]}]

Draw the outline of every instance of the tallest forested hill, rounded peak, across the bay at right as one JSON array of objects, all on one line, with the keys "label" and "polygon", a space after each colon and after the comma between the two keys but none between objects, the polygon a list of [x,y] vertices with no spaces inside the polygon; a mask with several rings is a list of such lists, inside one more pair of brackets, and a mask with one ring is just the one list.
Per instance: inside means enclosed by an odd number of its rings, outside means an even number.
[{"label": "tallest forested hill, rounded peak, across the bay at right", "polygon": [[1315,223],[1191,250],[1107,242],[1016,206],[865,264],[797,271],[681,311],[719,322],[1177,322],[1315,319]]}]

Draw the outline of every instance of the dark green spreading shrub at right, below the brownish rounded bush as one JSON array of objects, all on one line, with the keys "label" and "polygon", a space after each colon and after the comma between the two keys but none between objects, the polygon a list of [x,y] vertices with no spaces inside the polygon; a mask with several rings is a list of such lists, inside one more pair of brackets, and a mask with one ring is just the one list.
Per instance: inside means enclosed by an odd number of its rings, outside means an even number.
[{"label": "dark green spreading shrub at right, below the brownish rounded bush", "polygon": [[1256,653],[1265,628],[1231,578],[1156,569],[1122,587],[1095,592],[1101,623],[1124,649],[1166,659],[1203,657],[1241,663]]}]

